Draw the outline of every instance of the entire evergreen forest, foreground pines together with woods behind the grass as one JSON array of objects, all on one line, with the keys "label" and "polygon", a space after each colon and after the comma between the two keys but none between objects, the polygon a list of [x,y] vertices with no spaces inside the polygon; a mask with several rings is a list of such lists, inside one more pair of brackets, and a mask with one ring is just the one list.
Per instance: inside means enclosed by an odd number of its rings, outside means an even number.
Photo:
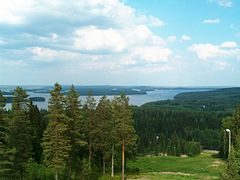
[{"label": "entire evergreen forest, foreground pines together with woods behind the grass", "polygon": [[[136,157],[195,157],[202,150],[228,158],[222,178],[238,177],[240,88],[182,93],[140,107],[124,94],[96,103],[88,92],[82,103],[74,86],[64,93],[58,83],[50,93],[48,110],[33,105],[21,87],[6,110],[0,93],[0,179],[94,180],[120,173],[124,179],[140,172],[127,165]],[[231,153],[225,129],[233,133]]]}]

